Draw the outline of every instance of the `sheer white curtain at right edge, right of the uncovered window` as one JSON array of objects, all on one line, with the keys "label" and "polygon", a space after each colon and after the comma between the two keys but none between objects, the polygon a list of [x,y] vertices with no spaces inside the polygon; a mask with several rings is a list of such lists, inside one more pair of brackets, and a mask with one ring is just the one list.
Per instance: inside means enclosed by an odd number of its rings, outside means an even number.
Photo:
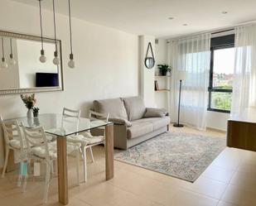
[{"label": "sheer white curtain at right edge, right of the uncovered window", "polygon": [[235,31],[235,64],[231,117],[256,107],[256,25]]}]

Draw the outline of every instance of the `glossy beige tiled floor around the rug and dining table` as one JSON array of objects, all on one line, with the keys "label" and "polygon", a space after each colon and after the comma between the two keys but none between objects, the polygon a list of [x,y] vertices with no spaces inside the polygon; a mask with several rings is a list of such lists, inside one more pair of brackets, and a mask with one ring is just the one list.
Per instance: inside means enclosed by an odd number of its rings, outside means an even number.
[{"label": "glossy beige tiled floor around the rug and dining table", "polygon": [[[173,128],[171,132],[198,132]],[[200,132],[225,137],[219,132]],[[69,158],[71,206],[255,206],[256,153],[226,148],[195,183],[115,161],[115,177],[104,181],[104,148],[94,148],[89,180],[76,186],[75,161]],[[82,162],[81,162],[82,164]],[[82,170],[81,170],[82,175]],[[41,205],[43,181],[30,180],[27,192],[16,187],[15,173],[0,179],[1,206]],[[57,181],[51,179],[49,204],[57,203]]]}]

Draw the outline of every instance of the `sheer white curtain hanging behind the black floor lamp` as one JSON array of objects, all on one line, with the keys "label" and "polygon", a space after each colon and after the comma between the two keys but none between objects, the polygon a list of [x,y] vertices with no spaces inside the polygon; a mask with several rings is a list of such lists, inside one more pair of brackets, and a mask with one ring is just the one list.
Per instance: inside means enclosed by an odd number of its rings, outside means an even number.
[{"label": "sheer white curtain hanging behind the black floor lamp", "polygon": [[168,63],[171,72],[171,121],[177,121],[179,79],[178,70],[186,70],[182,82],[181,122],[201,130],[206,127],[210,73],[210,34],[200,34],[169,41]]}]

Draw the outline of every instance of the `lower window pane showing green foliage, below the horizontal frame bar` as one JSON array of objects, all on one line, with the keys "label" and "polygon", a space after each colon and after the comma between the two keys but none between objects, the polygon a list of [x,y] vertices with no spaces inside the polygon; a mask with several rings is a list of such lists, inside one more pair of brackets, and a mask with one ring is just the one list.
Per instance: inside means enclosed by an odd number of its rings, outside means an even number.
[{"label": "lower window pane showing green foliage, below the horizontal frame bar", "polygon": [[210,108],[222,109],[230,111],[231,109],[231,93],[211,93]]}]

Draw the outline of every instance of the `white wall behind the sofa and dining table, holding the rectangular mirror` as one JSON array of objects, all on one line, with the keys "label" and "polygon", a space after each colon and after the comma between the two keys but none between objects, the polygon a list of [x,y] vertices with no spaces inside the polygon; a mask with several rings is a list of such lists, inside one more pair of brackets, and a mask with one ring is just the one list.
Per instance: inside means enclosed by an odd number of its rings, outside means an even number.
[{"label": "white wall behind the sofa and dining table, holding the rectangular mirror", "polygon": [[[70,53],[68,17],[57,15],[65,91],[36,93],[40,112],[61,113],[65,106],[81,108],[82,116],[85,116],[94,99],[138,95],[138,36],[79,19],[72,20],[76,68],[67,67]],[[38,8],[2,0],[0,25],[2,30],[39,36]],[[43,27],[44,36],[53,37],[51,12],[43,11]],[[46,57],[53,59],[51,54]],[[26,112],[19,95],[0,96],[0,114],[3,118],[24,116]],[[0,153],[0,167],[2,156]]]}]

